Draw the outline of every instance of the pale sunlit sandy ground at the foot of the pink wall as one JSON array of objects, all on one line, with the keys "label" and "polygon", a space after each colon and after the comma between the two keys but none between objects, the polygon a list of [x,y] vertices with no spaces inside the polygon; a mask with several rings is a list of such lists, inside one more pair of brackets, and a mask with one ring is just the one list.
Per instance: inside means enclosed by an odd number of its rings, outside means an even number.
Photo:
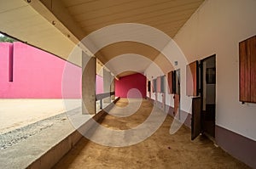
[{"label": "pale sunlit sandy ground at the foot of the pink wall", "polygon": [[73,110],[80,99],[0,99],[0,134]]}]

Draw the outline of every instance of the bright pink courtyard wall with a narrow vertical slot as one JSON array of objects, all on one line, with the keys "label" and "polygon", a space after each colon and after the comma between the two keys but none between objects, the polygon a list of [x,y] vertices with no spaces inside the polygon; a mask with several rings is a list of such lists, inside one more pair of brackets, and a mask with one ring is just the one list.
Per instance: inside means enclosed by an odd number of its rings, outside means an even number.
[{"label": "bright pink courtyard wall with a narrow vertical slot", "polygon": [[[80,98],[81,72],[79,66],[38,48],[21,42],[0,43],[2,99]],[[11,77],[13,82],[9,82]]]}]

